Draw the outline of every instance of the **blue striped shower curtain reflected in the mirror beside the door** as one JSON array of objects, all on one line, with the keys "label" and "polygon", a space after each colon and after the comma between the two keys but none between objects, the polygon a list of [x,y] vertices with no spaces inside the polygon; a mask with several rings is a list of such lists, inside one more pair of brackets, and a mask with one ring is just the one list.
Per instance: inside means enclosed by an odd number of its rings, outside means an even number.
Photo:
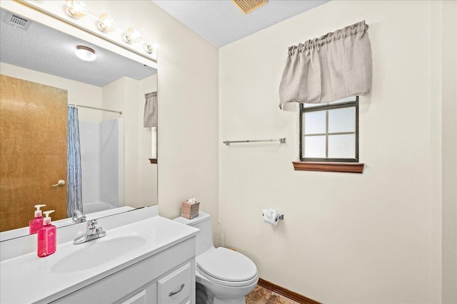
[{"label": "blue striped shower curtain reflected in the mirror beside the door", "polygon": [[73,210],[83,211],[81,197],[81,149],[79,145],[78,108],[68,106],[68,150],[67,150],[67,194],[66,215],[73,216]]}]

